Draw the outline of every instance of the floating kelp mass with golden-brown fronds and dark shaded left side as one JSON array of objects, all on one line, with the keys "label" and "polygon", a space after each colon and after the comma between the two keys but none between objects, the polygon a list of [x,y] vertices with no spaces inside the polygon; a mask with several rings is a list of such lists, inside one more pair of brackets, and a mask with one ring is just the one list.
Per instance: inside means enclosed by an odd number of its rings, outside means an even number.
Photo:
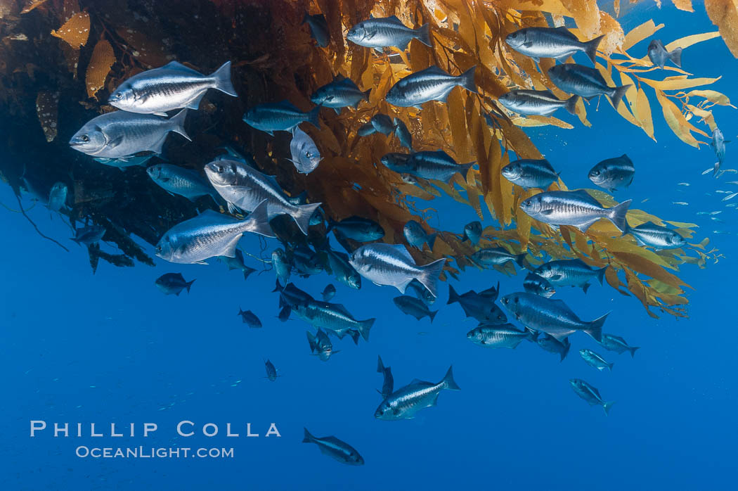
[{"label": "floating kelp mass with golden-brown fronds and dark shaded left side", "polygon": [[[681,10],[693,10],[689,0],[673,3]],[[666,49],[689,47],[722,35],[737,53],[737,23],[731,21],[735,13],[732,7],[718,11],[719,3],[706,1],[708,15],[720,34],[688,35],[669,42]],[[4,34],[24,33],[32,43],[0,44],[0,111],[10,116],[0,123],[7,129],[1,131],[0,150],[12,157],[2,159],[0,170],[16,193],[21,188],[30,192],[48,189],[57,181],[69,183],[73,196],[72,207],[65,212],[69,219],[103,225],[108,230],[106,241],[121,251],[114,255],[93,248],[93,267],[100,258],[118,266],[130,266],[128,258],[153,264],[131,237],[155,244],[173,224],[212,205],[207,198],[193,204],[168,195],[141,168],[121,172],[66,146],[69,135],[86,120],[112,110],[105,101],[123,80],[175,59],[203,73],[232,61],[232,79],[241,97],[208,92],[199,111],[190,111],[188,117],[193,141],[185,143],[174,137],[166,146],[170,162],[201,169],[221,152],[218,147],[230,145],[251,154],[255,165],[275,175],[286,193],[297,196],[306,190],[309,201],[323,202],[329,218],[357,215],[376,220],[385,230],[384,241],[402,243],[402,227],[415,219],[439,235],[432,251],[411,248],[411,254],[422,263],[452,259],[446,263],[444,277],[457,277],[466,267],[476,267],[469,259],[475,248],[461,242],[461,230],[457,230],[461,224],[453,224],[451,231],[432,227],[429,219],[434,210],[420,200],[439,196],[472,207],[480,219],[492,216],[494,224],[483,230],[479,247],[527,251],[529,267],[548,258],[581,258],[593,267],[609,266],[607,284],[622,295],[637,298],[653,316],[652,308],[686,315],[689,285],[677,276],[680,266],[705,267],[707,261],[720,257],[706,249],[706,238],[693,238],[696,225],[664,222],[644,210],[630,210],[630,224],[669,223],[689,241],[700,241],[682,249],[655,251],[622,236],[604,220],[587,233],[537,222],[519,206],[537,190],[523,190],[500,175],[511,159],[541,157],[521,128],[573,128],[556,117],[520,117],[497,104],[497,97],[513,88],[550,89],[559,98],[566,96],[545,75],[554,61],[543,59],[537,66],[504,42],[509,32],[520,27],[567,25],[585,40],[604,35],[595,66],[609,83],[632,84],[618,114],[652,139],[658,137],[653,118],[663,114],[683,142],[702,145],[708,137],[705,128],[716,124],[711,106],[731,105],[725,95],[703,88],[717,78],[695,77],[673,66],[656,71],[643,56],[645,47],[633,49],[663,24],[647,21],[624,32],[616,18],[599,10],[595,0],[182,0],[176,8],[155,0],[46,0],[22,5],[11,2],[11,7],[12,12],[0,19]],[[616,0],[613,7],[617,17],[625,5]],[[311,40],[308,27],[302,24],[306,12],[325,15],[331,35],[328,47],[317,47]],[[413,40],[408,52],[388,49],[376,54],[347,43],[345,30],[370,15],[394,15],[414,26],[428,23],[433,46]],[[80,30],[70,27],[84,19],[89,22],[89,35],[81,38]],[[384,102],[397,80],[432,65],[455,75],[477,66],[478,94],[455,89],[447,103],[426,103],[421,110]],[[659,79],[657,75],[663,73],[673,76]],[[370,100],[341,114],[322,111],[320,129],[306,128],[324,157],[319,168],[307,176],[297,174],[286,160],[288,134],[269,137],[241,122],[245,109],[263,102],[287,99],[300,109],[311,109],[311,93],[338,74],[350,77],[362,90],[372,89]],[[587,109],[591,107],[579,101],[577,124],[590,126]],[[449,182],[405,182],[403,176],[379,163],[385,153],[403,151],[396,138],[356,134],[378,112],[404,121],[415,150],[441,148],[458,162],[476,161],[477,167]],[[49,129],[52,114],[61,114],[57,138]],[[35,120],[41,125],[34,126],[31,122]],[[37,132],[32,131],[34,127]],[[551,189],[568,188],[559,179]],[[615,204],[607,193],[587,191],[605,206]],[[275,219],[272,226],[283,241],[324,245],[322,225],[311,227],[307,237],[297,233],[290,220]],[[348,248],[357,245],[336,239]],[[515,274],[510,264],[500,271]]]}]

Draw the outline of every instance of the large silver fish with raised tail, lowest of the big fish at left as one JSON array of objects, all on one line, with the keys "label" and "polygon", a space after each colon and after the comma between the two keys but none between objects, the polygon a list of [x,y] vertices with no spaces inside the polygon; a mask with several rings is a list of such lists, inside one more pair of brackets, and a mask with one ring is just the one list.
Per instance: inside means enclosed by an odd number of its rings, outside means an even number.
[{"label": "large silver fish with raised tail, lowest of the big fish at left", "polygon": [[235,257],[241,236],[251,232],[274,237],[266,215],[266,200],[245,220],[205,210],[193,219],[170,228],[156,244],[156,255],[172,263],[204,263],[217,255]]}]

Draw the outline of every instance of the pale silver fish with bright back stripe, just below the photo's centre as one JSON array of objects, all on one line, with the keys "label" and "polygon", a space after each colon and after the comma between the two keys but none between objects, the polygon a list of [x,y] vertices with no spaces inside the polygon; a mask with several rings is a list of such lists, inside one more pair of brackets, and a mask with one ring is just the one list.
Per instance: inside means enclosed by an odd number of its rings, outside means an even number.
[{"label": "pale silver fish with bright back stripe, just below the photo's centre", "polygon": [[404,245],[376,243],[356,249],[348,262],[359,275],[374,284],[394,286],[404,295],[407,284],[416,279],[437,297],[438,275],[444,269],[446,258],[418,266]]}]

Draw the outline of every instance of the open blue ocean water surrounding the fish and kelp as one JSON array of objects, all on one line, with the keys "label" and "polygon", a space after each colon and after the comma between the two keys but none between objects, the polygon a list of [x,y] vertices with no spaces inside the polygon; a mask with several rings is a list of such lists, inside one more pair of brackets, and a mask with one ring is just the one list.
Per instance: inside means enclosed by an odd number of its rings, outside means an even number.
[{"label": "open blue ocean water surrounding the fish and kelp", "polygon": [[[664,2],[661,9],[634,7],[620,20],[625,30],[648,18],[663,22],[658,37],[664,41],[714,30],[703,6],[694,4],[694,14]],[[645,53],[646,46],[643,41],[635,49]],[[710,88],[738,100],[736,61],[720,39],[686,49],[683,66],[700,76],[722,75]],[[321,363],[309,354],[305,323],[277,320],[273,272],[244,281],[217,261],[204,267],[157,259],[154,268],[101,263],[92,275],[86,250],[66,240],[69,227],[49,218],[44,207],[30,216],[44,233],[71,244],[70,253],[39,238],[19,214],[0,210],[6,231],[0,241],[0,489],[734,489],[738,334],[730,292],[738,230],[735,208],[725,207],[723,195],[714,192],[734,188],[725,184],[733,174],[719,180],[701,175],[714,162],[711,149],[681,143],[663,123],[655,100],[652,109],[658,143],[607,103],[590,109],[592,128],[559,115],[575,129],[529,131],[570,188],[590,187],[591,165],[627,153],[635,162],[635,181],[615,197],[633,199],[663,219],[696,222],[697,236],[709,237],[724,256],[706,269],[681,268],[693,288],[688,319],[653,319],[637,299],[608,286],[594,285],[586,295],[559,289],[556,298],[584,319],[612,311],[604,331],[641,346],[633,358],[604,351],[582,334],[571,337],[562,363],[530,343],[514,350],[480,348],[466,339],[475,321],[463,317],[458,305],[446,306],[446,284],[433,306],[438,315],[429,323],[401,314],[392,303],[395,289],[365,281],[359,291],[338,286],[334,301],[357,318],[376,317],[370,343],[334,341],[340,352]],[[726,139],[735,139],[735,109],[716,106],[714,113]],[[735,167],[733,150],[728,145],[727,168]],[[15,203],[9,187],[0,186],[0,202]],[[473,210],[450,199],[433,205],[447,230],[461,230],[475,219]],[[697,215],[711,210],[722,210],[717,216],[725,223]],[[489,215],[484,223],[492,223]],[[244,238],[241,247],[258,250],[258,240]],[[249,258],[246,264],[259,267]],[[162,295],[154,280],[165,272],[196,278],[190,294]],[[520,274],[508,278],[468,269],[452,284],[463,292],[500,281],[505,294],[519,290],[522,280]],[[331,281],[323,274],[296,282],[317,296]],[[239,307],[255,312],[264,329],[246,328],[236,315]],[[615,363],[613,371],[587,366],[579,348],[604,354]],[[378,355],[392,367],[396,387],[415,378],[436,382],[453,365],[462,390],[444,391],[437,407],[415,419],[379,421],[373,417],[381,402]],[[264,378],[266,359],[277,367],[275,382]],[[575,377],[615,401],[610,416],[571,391],[568,380]],[[53,438],[47,428],[31,438],[32,420],[69,422],[72,433],[80,422],[86,436]],[[182,421],[194,423],[195,436],[177,436]],[[93,422],[106,436],[89,436]],[[137,436],[109,436],[111,422],[119,431],[125,425],[125,433],[134,423]],[[146,438],[145,422],[158,425]],[[202,435],[207,423],[218,425],[218,435]],[[239,437],[225,436],[227,423]],[[246,423],[260,436],[246,437]],[[265,436],[271,423],[280,436]],[[303,427],[350,443],[366,464],[345,466],[300,443]],[[75,456],[80,446],[139,445],[232,447],[233,457]]]}]

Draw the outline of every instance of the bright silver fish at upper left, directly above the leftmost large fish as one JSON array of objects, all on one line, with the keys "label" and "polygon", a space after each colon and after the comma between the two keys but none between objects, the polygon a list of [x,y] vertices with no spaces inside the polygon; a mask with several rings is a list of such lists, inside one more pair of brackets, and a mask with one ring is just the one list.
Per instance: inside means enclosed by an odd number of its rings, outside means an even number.
[{"label": "bright silver fish at upper left, directly above the leftmost large fish", "polygon": [[121,83],[108,97],[108,104],[127,112],[166,116],[173,109],[199,109],[208,89],[238,97],[230,78],[230,61],[210,75],[170,61]]}]

